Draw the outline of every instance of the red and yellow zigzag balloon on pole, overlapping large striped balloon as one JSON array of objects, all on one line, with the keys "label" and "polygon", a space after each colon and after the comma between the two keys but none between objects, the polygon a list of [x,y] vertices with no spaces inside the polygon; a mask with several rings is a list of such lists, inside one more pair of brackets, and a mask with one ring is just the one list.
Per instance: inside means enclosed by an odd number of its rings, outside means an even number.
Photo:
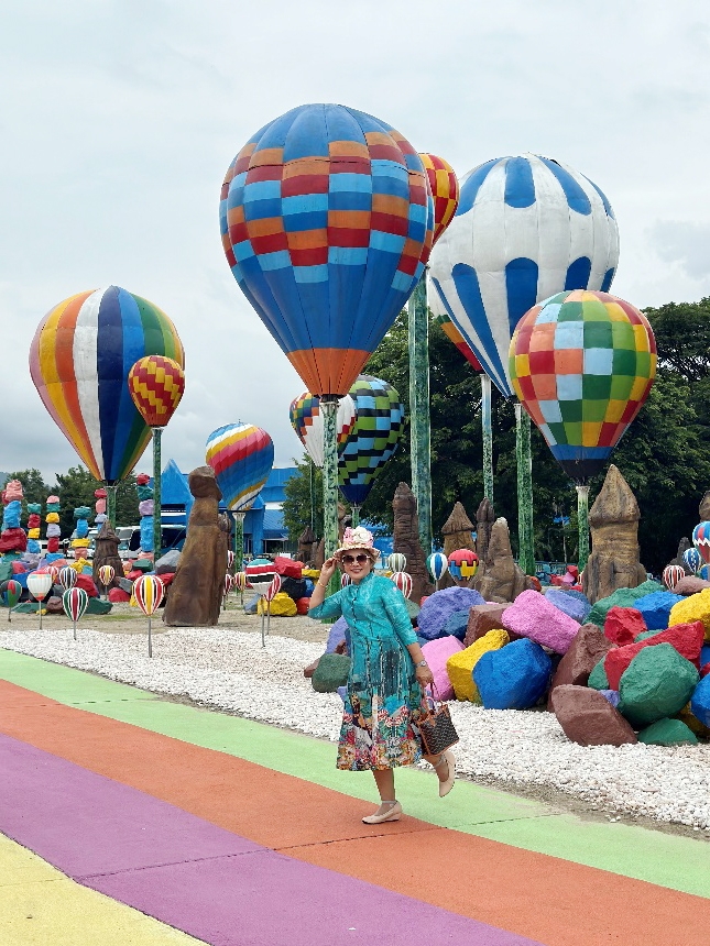
[{"label": "red and yellow zigzag balloon on pole, overlapping large striped balloon", "polygon": [[[163,546],[161,507],[161,438],[185,391],[182,364],[165,355],[145,355],[128,373],[128,389],[136,410],[153,432],[153,560]],[[151,549],[143,549],[151,551]]]}]

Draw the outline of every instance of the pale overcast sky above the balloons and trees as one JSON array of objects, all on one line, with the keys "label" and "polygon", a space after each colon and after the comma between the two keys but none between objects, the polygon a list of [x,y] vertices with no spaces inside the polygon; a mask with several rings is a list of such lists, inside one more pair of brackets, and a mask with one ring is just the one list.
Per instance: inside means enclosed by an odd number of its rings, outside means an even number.
[{"label": "pale overcast sky above the balloons and trees", "polygon": [[[111,283],[175,322],[187,388],[163,458],[238,419],[301,455],[303,382],[222,255],[227,166],[305,102],[370,112],[459,175],[521,152],[610,198],[612,292],[710,295],[710,8],[702,0],[0,0],[0,470],[78,458],[30,380],[44,315]],[[136,472],[151,470],[150,451]]]}]

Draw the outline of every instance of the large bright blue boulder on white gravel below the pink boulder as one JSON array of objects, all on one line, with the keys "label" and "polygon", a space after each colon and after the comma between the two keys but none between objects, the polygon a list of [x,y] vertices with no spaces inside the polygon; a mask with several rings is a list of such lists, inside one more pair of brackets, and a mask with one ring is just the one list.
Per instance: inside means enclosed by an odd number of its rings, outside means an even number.
[{"label": "large bright blue boulder on white gravel below the pink boulder", "polygon": [[533,640],[513,640],[489,650],[473,668],[473,682],[487,710],[529,710],[545,695],[553,661]]}]

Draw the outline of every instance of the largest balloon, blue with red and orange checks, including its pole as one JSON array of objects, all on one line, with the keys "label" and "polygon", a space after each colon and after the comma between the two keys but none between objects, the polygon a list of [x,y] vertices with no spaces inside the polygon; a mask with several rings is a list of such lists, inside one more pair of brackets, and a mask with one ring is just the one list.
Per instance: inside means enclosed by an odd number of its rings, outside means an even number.
[{"label": "largest balloon, blue with red and orange checks, including its pole", "polygon": [[433,219],[412,145],[343,106],[301,106],[270,122],[225,177],[220,229],[234,278],[320,397],[326,556],[338,541],[337,400],[419,280]]}]

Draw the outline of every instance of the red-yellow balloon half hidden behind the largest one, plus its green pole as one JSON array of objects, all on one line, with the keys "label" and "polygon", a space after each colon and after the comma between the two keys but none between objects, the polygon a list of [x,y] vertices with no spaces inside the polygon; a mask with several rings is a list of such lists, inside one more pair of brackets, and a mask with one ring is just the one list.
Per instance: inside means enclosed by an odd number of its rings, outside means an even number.
[{"label": "red-yellow balloon half hidden behind the largest one, plus its green pole", "polygon": [[[435,154],[419,153],[434,208],[433,244],[454,219],[459,202],[459,182],[451,165]],[[412,492],[416,496],[422,548],[432,550],[432,430],[429,417],[429,314],[427,273],[409,297],[409,460]]]}]

